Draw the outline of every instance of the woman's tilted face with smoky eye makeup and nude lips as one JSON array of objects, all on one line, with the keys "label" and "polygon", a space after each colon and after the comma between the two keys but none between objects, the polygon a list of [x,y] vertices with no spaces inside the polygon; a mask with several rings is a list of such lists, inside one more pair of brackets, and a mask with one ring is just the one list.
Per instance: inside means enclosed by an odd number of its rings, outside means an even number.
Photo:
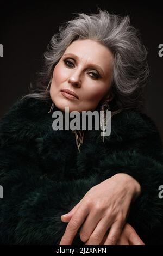
[{"label": "woman's tilted face with smoky eye makeup and nude lips", "polygon": [[[61,111],[93,111],[109,99],[114,57],[105,46],[91,39],[73,41],[55,65],[51,99]],[[70,90],[74,97],[63,90]]]}]

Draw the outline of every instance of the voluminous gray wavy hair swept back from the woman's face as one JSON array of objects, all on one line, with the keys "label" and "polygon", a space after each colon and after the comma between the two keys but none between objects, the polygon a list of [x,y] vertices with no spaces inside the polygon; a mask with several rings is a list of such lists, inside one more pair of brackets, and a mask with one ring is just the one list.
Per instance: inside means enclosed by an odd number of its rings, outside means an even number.
[{"label": "voluminous gray wavy hair swept back from the woman's face", "polygon": [[33,89],[33,85],[30,84],[30,93],[23,98],[49,99],[49,90],[46,88],[54,67],[66,48],[74,40],[92,39],[108,47],[114,55],[111,83],[114,99],[110,103],[110,110],[142,109],[145,99],[144,88],[149,76],[147,50],[137,29],[130,25],[129,15],[121,17],[100,8],[94,14],[74,15],[74,19],[61,23],[59,33],[52,36],[47,51],[43,54],[43,69],[39,72],[37,86]]}]

